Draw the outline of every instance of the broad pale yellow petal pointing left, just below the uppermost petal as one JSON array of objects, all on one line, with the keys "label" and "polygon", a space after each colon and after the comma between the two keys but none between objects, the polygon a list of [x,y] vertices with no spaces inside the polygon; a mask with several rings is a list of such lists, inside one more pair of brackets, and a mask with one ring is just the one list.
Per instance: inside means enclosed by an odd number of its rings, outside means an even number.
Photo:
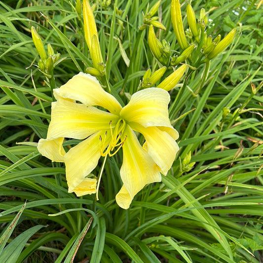
[{"label": "broad pale yellow petal pointing left, just below the uppermost petal", "polygon": [[47,138],[85,139],[95,132],[108,129],[110,121],[114,128],[118,118],[117,115],[95,107],[86,107],[83,104],[61,99],[52,103]]}]

